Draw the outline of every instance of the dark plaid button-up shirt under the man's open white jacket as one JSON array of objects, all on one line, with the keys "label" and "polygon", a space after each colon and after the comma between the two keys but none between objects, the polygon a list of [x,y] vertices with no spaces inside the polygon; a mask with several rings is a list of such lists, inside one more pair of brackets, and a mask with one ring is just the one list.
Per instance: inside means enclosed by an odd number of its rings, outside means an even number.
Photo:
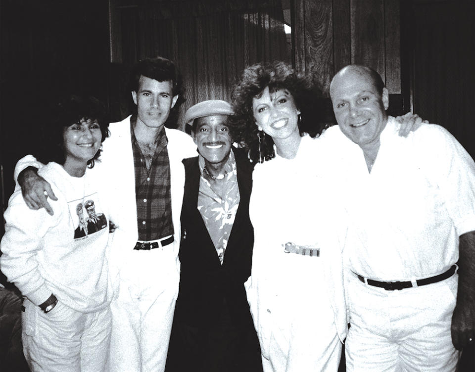
[{"label": "dark plaid button-up shirt under the man's open white jacket", "polygon": [[134,152],[137,225],[139,240],[150,241],[173,234],[168,139],[162,129],[156,140],[157,148],[150,169],[147,170],[145,158],[134,134],[134,119],[131,120],[130,131]]}]

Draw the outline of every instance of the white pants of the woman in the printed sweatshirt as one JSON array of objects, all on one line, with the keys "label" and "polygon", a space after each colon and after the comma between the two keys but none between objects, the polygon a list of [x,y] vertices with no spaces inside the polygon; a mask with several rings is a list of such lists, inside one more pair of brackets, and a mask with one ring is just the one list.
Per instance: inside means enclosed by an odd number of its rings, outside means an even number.
[{"label": "white pants of the woman in the printed sweatshirt", "polygon": [[23,352],[32,372],[107,370],[111,330],[109,307],[85,314],[58,302],[45,314],[29,300],[23,305]]}]

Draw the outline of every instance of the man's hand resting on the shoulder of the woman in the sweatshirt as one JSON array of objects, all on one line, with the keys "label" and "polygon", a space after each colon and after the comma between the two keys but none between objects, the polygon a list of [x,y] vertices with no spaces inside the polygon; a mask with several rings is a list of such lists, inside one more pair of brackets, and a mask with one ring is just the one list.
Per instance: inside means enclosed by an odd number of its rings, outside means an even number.
[{"label": "man's hand resting on the shoulder of the woman in the sweatshirt", "polygon": [[38,176],[38,169],[26,167],[18,175],[18,184],[28,208],[35,210],[45,208],[48,214],[53,215],[53,209],[47,198],[50,197],[51,200],[58,200],[58,198],[54,195],[51,185],[43,177]]}]

